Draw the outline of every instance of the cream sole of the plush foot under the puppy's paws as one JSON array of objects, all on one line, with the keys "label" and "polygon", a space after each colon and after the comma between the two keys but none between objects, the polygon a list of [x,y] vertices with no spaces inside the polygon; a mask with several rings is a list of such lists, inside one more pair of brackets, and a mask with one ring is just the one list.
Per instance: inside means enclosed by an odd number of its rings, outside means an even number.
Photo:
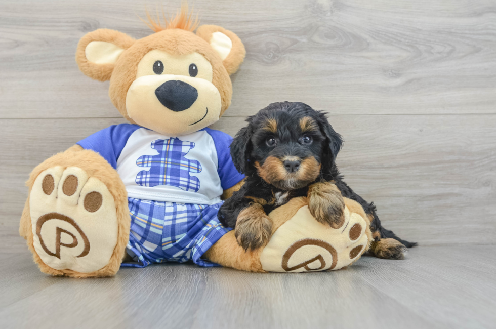
[{"label": "cream sole of the plush foot under the puppy's paws", "polygon": [[260,261],[271,272],[337,270],[365,252],[369,235],[366,220],[347,207],[343,225],[336,229],[317,222],[305,206],[275,231]]}]

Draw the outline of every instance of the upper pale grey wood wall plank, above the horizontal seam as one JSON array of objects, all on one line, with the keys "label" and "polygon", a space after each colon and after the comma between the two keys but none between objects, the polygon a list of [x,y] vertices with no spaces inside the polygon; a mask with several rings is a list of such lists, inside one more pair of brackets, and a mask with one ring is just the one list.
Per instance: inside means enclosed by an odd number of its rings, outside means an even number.
[{"label": "upper pale grey wood wall plank, above the horizontal seam", "polygon": [[[0,2],[0,118],[115,117],[108,83],[77,69],[85,33],[150,33],[132,0]],[[164,2],[169,13],[179,1]],[[154,7],[155,2],[149,6]],[[226,116],[274,101],[332,114],[496,113],[492,0],[196,0],[203,24],[233,30],[246,60]]]}]

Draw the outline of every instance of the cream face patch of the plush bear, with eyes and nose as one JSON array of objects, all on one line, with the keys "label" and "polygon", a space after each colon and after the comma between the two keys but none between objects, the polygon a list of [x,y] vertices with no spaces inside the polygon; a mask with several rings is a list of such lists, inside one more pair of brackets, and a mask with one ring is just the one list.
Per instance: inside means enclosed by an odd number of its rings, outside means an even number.
[{"label": "cream face patch of the plush bear, with eyes and nose", "polygon": [[127,115],[155,131],[204,128],[217,121],[222,107],[212,81],[212,65],[199,53],[172,55],[152,50],[139,62],[126,94]]}]

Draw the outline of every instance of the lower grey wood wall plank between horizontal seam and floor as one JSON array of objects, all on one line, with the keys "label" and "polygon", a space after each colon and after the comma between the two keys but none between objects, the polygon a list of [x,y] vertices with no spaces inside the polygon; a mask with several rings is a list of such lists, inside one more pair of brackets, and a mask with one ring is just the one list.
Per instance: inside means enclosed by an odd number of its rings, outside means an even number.
[{"label": "lower grey wood wall plank between horizontal seam and floor", "polygon": [[[25,248],[18,221],[23,182],[38,163],[123,119],[3,120],[0,246]],[[345,139],[338,165],[349,185],[374,201],[386,228],[424,245],[496,241],[496,116],[333,116]],[[213,126],[234,135],[244,118]]]}]

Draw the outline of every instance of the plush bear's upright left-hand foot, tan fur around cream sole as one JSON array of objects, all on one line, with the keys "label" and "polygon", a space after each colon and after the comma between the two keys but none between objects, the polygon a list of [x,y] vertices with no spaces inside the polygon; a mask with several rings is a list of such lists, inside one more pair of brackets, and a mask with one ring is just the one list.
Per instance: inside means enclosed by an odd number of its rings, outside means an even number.
[{"label": "plush bear's upright left-hand foot, tan fur around cream sole", "polygon": [[19,233],[40,270],[51,275],[114,275],[125,255],[130,217],[117,172],[75,145],[37,166],[27,181]]}]

